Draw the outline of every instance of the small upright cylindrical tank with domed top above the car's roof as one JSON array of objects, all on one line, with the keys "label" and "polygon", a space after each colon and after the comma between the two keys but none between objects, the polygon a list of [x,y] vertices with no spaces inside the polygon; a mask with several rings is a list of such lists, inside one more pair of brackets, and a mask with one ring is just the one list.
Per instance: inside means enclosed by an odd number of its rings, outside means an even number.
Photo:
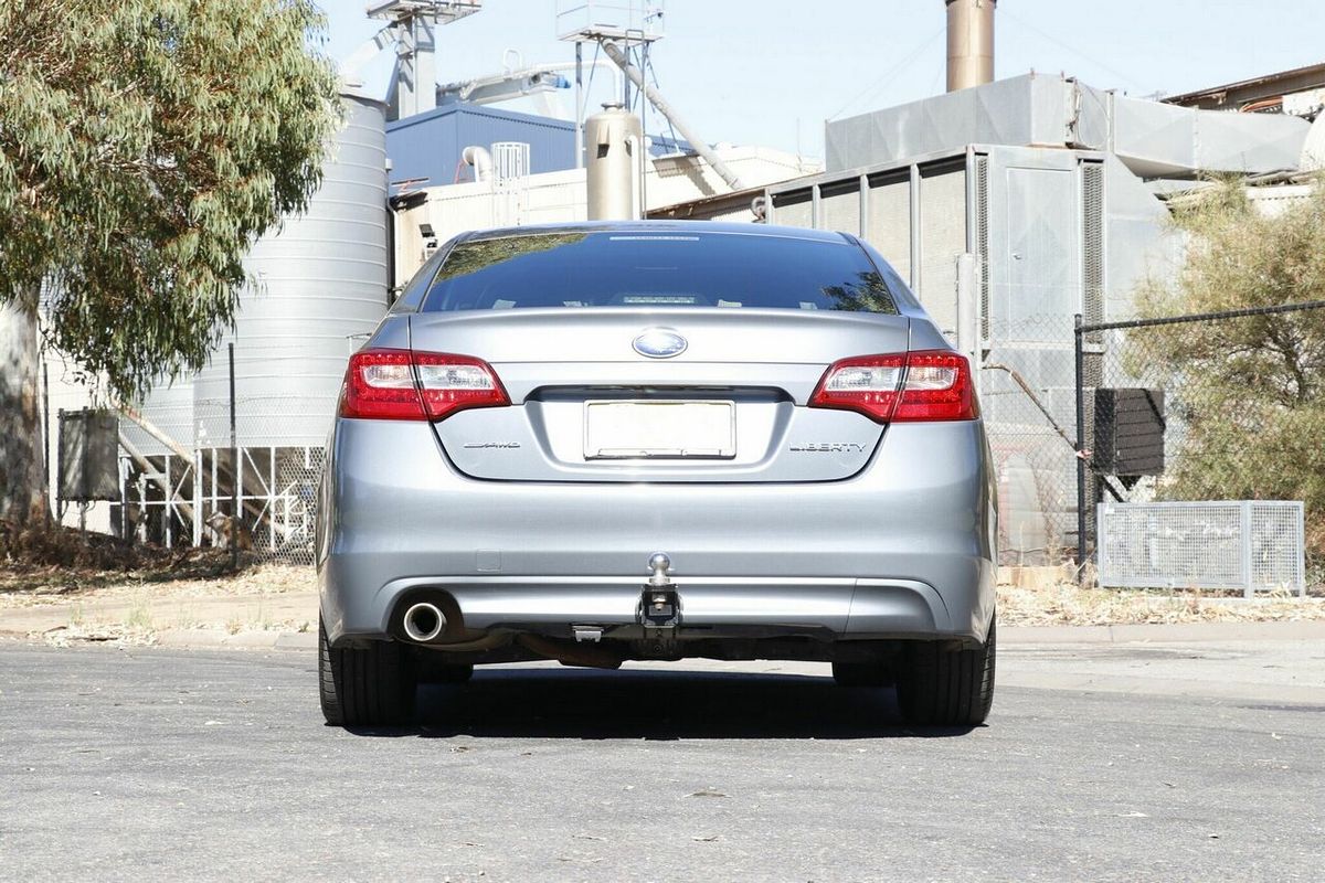
[{"label": "small upright cylindrical tank with domed top above the car's roof", "polygon": [[584,150],[588,154],[588,220],[631,221],[640,217],[644,155],[640,118],[620,105],[604,105],[603,113],[584,120]]}]

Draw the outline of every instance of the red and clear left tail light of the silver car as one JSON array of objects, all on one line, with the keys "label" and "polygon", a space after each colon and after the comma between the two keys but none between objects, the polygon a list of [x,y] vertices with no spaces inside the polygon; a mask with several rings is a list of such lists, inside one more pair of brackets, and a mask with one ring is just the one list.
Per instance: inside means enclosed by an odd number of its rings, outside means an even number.
[{"label": "red and clear left tail light of the silver car", "polygon": [[466,408],[509,404],[506,389],[482,359],[448,352],[364,349],[350,356],[341,416],[443,420]]}]

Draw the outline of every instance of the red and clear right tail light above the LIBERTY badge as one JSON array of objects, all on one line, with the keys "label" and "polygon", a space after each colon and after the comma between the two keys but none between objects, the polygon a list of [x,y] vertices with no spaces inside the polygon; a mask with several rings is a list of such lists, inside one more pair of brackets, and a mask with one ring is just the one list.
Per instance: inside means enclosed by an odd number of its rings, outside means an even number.
[{"label": "red and clear right tail light above the LIBERTY badge", "polygon": [[810,406],[857,410],[881,424],[979,416],[970,364],[946,349],[836,361],[824,372]]}]

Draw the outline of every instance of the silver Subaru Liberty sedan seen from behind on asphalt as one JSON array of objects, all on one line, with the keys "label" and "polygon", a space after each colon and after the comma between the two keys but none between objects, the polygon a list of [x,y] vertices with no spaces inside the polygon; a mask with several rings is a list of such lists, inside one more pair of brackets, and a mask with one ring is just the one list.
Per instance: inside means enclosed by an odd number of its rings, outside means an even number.
[{"label": "silver Subaru Liberty sedan seen from behind on asphalt", "polygon": [[994,695],[970,367],[840,233],[468,233],[346,372],[322,488],[326,719],[478,663],[812,659],[916,723]]}]

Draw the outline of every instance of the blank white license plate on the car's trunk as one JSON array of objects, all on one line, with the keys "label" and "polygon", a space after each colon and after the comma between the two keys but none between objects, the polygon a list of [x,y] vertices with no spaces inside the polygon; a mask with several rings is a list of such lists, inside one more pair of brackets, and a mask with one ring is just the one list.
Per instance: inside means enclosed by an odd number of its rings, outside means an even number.
[{"label": "blank white license plate on the car's trunk", "polygon": [[587,401],[584,459],[737,455],[730,401]]}]

